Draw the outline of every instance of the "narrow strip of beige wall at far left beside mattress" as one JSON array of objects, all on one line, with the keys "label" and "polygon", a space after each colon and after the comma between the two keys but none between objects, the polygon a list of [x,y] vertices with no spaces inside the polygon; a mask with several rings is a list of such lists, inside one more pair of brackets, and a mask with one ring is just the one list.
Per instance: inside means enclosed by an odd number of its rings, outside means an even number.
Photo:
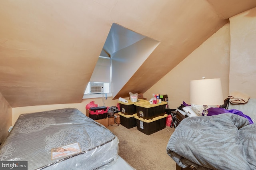
[{"label": "narrow strip of beige wall at far left beside mattress", "polygon": [[8,135],[8,129],[12,125],[12,109],[9,103],[0,93],[0,143],[2,143]]}]

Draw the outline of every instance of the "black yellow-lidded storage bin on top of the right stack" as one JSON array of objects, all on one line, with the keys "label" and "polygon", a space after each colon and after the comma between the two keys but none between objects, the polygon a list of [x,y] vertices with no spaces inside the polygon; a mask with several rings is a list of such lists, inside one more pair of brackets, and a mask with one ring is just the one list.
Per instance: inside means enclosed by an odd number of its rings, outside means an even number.
[{"label": "black yellow-lidded storage bin on top of the right stack", "polygon": [[150,104],[148,101],[134,103],[138,117],[143,119],[153,119],[154,117],[163,116],[165,114],[165,105],[167,102]]}]

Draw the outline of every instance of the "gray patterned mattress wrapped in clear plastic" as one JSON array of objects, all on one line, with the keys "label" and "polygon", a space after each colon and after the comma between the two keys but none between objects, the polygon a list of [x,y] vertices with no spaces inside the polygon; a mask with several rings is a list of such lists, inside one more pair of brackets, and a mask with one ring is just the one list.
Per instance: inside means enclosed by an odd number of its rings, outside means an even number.
[{"label": "gray patterned mattress wrapped in clear plastic", "polygon": [[0,146],[1,161],[28,161],[28,170],[93,170],[114,164],[118,138],[78,109],[19,116]]}]

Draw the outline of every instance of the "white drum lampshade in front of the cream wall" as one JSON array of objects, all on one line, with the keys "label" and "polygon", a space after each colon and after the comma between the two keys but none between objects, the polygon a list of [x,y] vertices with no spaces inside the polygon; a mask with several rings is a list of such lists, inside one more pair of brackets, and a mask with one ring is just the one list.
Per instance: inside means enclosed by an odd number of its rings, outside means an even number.
[{"label": "white drum lampshade in front of the cream wall", "polygon": [[223,105],[220,79],[190,81],[190,103],[195,105]]}]

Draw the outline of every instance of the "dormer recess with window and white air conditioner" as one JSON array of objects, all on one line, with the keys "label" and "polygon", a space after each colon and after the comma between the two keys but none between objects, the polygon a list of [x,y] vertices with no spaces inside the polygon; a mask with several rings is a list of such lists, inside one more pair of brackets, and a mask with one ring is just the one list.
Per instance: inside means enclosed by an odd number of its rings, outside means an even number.
[{"label": "dormer recess with window and white air conditioner", "polygon": [[93,98],[90,83],[104,84],[104,93],[98,97],[115,96],[159,43],[113,23],[86,88],[85,95],[90,95],[86,98]]}]

